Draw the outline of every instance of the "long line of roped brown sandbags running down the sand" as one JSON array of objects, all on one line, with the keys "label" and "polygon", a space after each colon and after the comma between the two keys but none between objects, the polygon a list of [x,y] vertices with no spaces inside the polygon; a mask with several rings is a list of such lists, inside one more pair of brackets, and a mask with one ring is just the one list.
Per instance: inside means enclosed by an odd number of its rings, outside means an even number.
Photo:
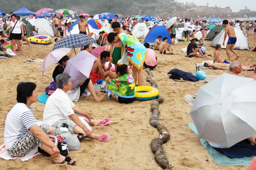
[{"label": "long line of roped brown sandbags running down the sand", "polygon": [[[146,81],[150,82],[152,87],[157,88],[157,84],[155,80],[151,80],[151,77],[154,76],[153,73],[150,71],[149,68],[146,69],[146,72],[148,72]],[[155,154],[155,160],[160,165],[160,167],[166,170],[167,169],[172,170],[174,165],[172,162],[169,162],[166,150],[164,148],[164,143],[166,143],[170,139],[170,133],[163,124],[159,123],[159,120],[158,120],[158,116],[160,114],[158,110],[158,105],[163,101],[164,101],[164,97],[159,95],[158,99],[154,99],[151,103],[151,111],[153,115],[150,117],[149,124],[152,125],[154,128],[159,129],[160,137],[153,139],[150,145],[151,145],[152,152]]]}]

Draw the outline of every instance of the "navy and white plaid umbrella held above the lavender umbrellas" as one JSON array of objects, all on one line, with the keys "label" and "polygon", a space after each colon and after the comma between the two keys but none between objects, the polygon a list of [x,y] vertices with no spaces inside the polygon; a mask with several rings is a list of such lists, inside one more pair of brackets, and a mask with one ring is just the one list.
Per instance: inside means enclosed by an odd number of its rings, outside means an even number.
[{"label": "navy and white plaid umbrella held above the lavender umbrellas", "polygon": [[92,37],[84,34],[71,34],[56,42],[53,46],[53,50],[58,48],[74,48],[86,46],[88,44],[96,43],[96,40]]}]

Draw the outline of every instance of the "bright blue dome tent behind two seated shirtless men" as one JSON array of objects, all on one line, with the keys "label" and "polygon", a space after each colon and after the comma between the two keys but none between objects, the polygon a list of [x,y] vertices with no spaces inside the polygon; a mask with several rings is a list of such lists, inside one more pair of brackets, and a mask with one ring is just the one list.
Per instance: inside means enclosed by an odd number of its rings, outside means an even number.
[{"label": "bright blue dome tent behind two seated shirtless men", "polygon": [[155,42],[158,35],[162,36],[161,41],[163,41],[164,37],[167,37],[167,43],[171,43],[170,33],[165,25],[154,25],[146,35],[144,42]]}]

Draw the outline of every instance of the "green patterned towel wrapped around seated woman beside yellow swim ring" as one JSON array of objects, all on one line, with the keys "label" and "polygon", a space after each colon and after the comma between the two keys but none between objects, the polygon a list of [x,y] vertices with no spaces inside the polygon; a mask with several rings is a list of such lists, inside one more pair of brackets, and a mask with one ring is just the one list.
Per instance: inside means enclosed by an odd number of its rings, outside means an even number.
[{"label": "green patterned towel wrapped around seated woman beside yellow swim ring", "polygon": [[[135,82],[131,75],[121,75],[117,79],[108,79],[106,92],[113,92],[119,97],[133,98],[135,97]],[[111,93],[108,93],[108,99]]]}]

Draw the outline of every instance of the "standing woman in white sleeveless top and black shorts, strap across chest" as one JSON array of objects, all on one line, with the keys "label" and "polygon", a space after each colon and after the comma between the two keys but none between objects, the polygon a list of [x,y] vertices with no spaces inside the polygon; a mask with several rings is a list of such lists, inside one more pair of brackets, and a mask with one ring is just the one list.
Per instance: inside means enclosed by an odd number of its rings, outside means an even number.
[{"label": "standing woman in white sleeveless top and black shorts, strap across chest", "polygon": [[23,53],[23,45],[22,45],[22,37],[24,37],[22,22],[17,20],[16,14],[12,14],[11,18],[12,18],[12,21],[10,22],[8,37],[10,37],[10,40],[12,40],[11,46],[12,46],[12,49],[14,49],[13,52],[15,53],[15,44],[19,44],[21,54],[22,56],[25,56],[25,54]]}]

